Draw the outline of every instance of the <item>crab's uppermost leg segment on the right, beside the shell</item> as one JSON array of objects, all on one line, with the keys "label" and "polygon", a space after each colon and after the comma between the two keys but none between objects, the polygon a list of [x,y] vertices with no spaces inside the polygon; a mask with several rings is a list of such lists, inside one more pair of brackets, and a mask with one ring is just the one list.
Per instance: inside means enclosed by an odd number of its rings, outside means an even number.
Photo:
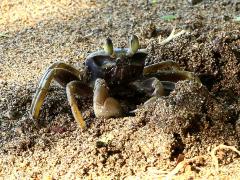
[{"label": "crab's uppermost leg segment on the right, beside the shell", "polygon": [[167,69],[167,68],[172,70],[180,70],[180,66],[178,63],[174,61],[163,61],[160,63],[156,63],[156,64],[152,64],[144,67],[143,74],[146,75],[146,74],[156,73],[161,69]]}]

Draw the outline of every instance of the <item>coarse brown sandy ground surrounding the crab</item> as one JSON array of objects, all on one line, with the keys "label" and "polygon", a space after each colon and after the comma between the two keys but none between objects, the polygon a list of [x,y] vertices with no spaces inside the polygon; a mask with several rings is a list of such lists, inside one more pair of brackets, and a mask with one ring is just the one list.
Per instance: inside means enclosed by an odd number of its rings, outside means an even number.
[{"label": "coarse brown sandy ground surrounding the crab", "polygon": [[[238,179],[235,149],[217,150],[218,169],[210,152],[220,144],[240,149],[240,24],[234,20],[239,6],[237,1],[194,6],[187,1],[1,1],[0,178]],[[174,25],[189,33],[159,45]],[[115,119],[95,118],[91,98],[79,98],[89,124],[82,131],[65,90],[53,83],[38,123],[29,118],[32,96],[50,64],[80,68],[106,37],[115,47],[126,47],[131,34],[147,48],[146,64],[174,60],[203,85],[179,82],[136,116]],[[177,165],[183,166],[175,172]]]}]

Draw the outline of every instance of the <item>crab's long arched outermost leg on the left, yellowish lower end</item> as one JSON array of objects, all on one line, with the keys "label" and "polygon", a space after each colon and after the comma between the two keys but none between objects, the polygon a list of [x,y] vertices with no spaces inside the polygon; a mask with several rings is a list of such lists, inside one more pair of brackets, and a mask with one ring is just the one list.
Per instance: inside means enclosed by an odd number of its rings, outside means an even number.
[{"label": "crab's long arched outermost leg on the left, yellowish lower end", "polygon": [[40,80],[39,86],[33,97],[33,101],[31,104],[30,113],[34,119],[37,119],[39,116],[41,106],[46,97],[51,81],[53,79],[58,78],[63,73],[65,75],[68,75],[68,79],[70,79],[71,77],[72,78],[71,81],[78,79],[78,77],[76,77],[73,73],[71,73],[67,69],[62,69],[62,68],[48,69]]}]

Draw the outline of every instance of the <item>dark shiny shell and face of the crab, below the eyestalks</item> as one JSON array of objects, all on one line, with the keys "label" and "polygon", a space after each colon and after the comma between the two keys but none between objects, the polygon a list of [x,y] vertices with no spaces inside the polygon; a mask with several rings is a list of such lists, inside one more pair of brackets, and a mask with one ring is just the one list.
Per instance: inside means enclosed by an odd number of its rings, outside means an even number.
[{"label": "dark shiny shell and face of the crab, below the eyestalks", "polygon": [[133,55],[129,48],[114,48],[113,55],[104,50],[91,53],[86,58],[87,72],[90,80],[104,79],[109,86],[123,85],[143,76],[147,52],[138,49]]}]

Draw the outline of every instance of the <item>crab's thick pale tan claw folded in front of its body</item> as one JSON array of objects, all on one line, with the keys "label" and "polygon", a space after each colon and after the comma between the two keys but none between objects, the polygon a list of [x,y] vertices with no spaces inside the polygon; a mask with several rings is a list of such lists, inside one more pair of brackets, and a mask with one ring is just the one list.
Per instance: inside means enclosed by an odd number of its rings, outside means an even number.
[{"label": "crab's thick pale tan claw folded in front of its body", "polygon": [[119,117],[122,108],[119,102],[109,97],[108,87],[104,79],[96,79],[93,90],[93,108],[96,117]]}]

